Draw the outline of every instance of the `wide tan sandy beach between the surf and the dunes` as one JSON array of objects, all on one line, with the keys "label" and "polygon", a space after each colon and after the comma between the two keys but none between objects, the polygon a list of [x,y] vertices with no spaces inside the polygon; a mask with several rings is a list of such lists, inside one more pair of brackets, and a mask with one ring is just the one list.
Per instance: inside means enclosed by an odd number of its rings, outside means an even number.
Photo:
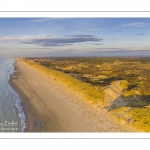
[{"label": "wide tan sandy beach between the surf and the dunes", "polygon": [[125,132],[105,109],[93,109],[75,94],[21,60],[10,84],[19,94],[28,132]]}]

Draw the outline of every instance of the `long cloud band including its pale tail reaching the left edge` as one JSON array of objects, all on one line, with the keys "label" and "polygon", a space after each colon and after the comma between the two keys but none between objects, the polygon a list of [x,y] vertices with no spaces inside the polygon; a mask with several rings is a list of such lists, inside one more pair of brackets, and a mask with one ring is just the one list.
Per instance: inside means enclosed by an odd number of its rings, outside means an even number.
[{"label": "long cloud band including its pale tail reaching the left edge", "polygon": [[101,41],[103,39],[98,38],[93,35],[64,35],[62,37],[54,37],[52,35],[41,35],[38,37],[32,37],[32,36],[21,36],[21,37],[0,37],[0,42],[19,42],[19,43],[25,43],[25,44],[35,44],[40,45],[44,47],[49,46],[65,46],[65,45],[72,45],[76,43],[86,43],[91,42],[100,45]]}]

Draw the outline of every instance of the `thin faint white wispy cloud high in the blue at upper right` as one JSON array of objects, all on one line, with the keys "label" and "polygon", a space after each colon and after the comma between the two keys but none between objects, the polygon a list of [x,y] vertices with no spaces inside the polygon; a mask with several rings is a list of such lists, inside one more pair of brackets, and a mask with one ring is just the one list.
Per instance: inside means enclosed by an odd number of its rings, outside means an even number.
[{"label": "thin faint white wispy cloud high in the blue at upper right", "polygon": [[120,27],[145,27],[145,26],[147,26],[147,23],[134,22],[134,23],[128,23],[128,24],[119,25],[119,26],[116,26],[116,28],[120,28]]}]

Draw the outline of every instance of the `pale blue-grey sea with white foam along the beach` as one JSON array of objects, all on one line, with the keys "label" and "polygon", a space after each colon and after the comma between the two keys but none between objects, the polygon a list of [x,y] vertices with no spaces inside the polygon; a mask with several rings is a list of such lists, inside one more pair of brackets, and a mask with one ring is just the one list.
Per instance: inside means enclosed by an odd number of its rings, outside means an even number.
[{"label": "pale blue-grey sea with white foam along the beach", "polygon": [[9,84],[15,59],[0,57],[0,132],[25,131],[26,117],[19,95]]}]

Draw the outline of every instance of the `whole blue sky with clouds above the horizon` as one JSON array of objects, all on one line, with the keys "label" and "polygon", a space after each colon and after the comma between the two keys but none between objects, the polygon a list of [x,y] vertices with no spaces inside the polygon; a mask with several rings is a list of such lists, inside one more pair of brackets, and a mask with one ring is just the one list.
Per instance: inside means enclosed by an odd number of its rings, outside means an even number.
[{"label": "whole blue sky with clouds above the horizon", "polygon": [[150,18],[0,18],[0,56],[150,56]]}]

